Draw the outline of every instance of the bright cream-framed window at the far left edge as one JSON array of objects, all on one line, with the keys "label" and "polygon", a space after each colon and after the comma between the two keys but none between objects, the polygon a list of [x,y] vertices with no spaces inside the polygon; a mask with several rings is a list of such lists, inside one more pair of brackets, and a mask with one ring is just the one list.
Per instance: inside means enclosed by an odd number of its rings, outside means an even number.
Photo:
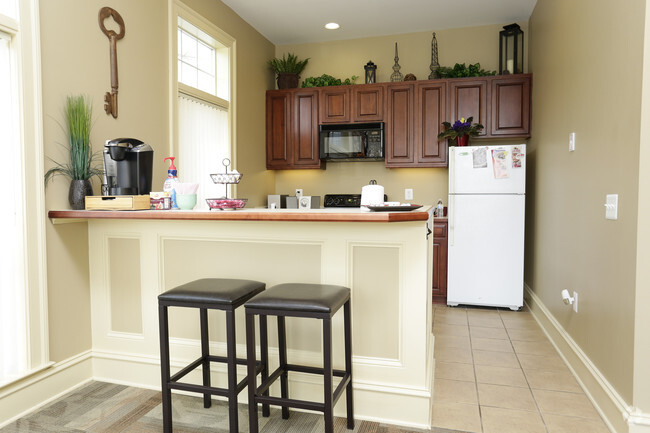
[{"label": "bright cream-framed window at the far left edge", "polygon": [[0,2],[0,387],[49,365],[37,9]]}]

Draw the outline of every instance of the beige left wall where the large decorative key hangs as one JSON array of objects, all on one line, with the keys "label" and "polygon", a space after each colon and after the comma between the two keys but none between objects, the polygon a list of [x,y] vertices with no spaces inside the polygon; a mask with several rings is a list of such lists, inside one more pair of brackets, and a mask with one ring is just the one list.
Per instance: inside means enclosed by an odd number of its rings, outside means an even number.
[{"label": "beige left wall where the large decorative key hangs", "polygon": [[[106,139],[136,137],[155,152],[154,187],[166,175],[162,158],[169,149],[169,61],[167,2],[115,0],[110,6],[124,19],[126,36],[117,44],[119,117],[107,116],[103,97],[110,90],[109,40],[97,16],[105,2],[40,2],[43,70],[43,129],[46,157],[63,160],[62,110],[66,95],[93,100],[93,147]],[[239,171],[246,173],[241,193],[260,202],[271,191],[273,173],[264,170],[264,91],[272,85],[265,62],[274,47],[220,1],[192,0],[189,6],[237,39],[237,125]],[[108,28],[115,29],[110,20]],[[51,162],[46,158],[46,168]],[[270,186],[264,186],[269,185]],[[57,178],[46,191],[47,209],[67,209],[69,182]],[[260,186],[262,185],[262,186]],[[95,193],[99,193],[95,182]],[[267,191],[268,190],[268,191]],[[60,361],[91,347],[87,225],[47,223],[50,357]]]}]

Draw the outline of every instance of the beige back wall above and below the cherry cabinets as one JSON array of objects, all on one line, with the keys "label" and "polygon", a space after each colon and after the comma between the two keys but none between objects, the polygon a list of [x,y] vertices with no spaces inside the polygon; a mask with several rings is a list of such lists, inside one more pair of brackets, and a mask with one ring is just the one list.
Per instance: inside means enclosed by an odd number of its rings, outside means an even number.
[{"label": "beige back wall above and below the cherry cabinets", "polygon": [[[527,23],[520,23],[527,35]],[[436,31],[439,62],[443,66],[454,63],[480,63],[481,67],[496,70],[499,66],[499,30],[502,25],[466,27]],[[427,79],[431,64],[432,32],[354,39],[325,43],[279,45],[275,55],[294,53],[299,58],[309,57],[302,78],[329,74],[336,78],[358,75],[356,83],[364,82],[363,66],[372,60],[377,67],[377,81],[390,81],[398,44],[399,64],[403,75],[413,73]],[[527,41],[524,47],[527,47]],[[525,53],[527,58],[527,53]],[[520,143],[522,140],[500,140],[492,144]],[[413,203],[430,204],[439,198],[447,203],[447,169],[414,168],[387,169],[383,163],[348,162],[328,163],[326,170],[279,170],[275,176],[278,194],[295,193],[303,188],[306,195],[326,193],[356,193],[375,179],[386,189],[389,200],[404,201],[404,189],[413,188]]]}]

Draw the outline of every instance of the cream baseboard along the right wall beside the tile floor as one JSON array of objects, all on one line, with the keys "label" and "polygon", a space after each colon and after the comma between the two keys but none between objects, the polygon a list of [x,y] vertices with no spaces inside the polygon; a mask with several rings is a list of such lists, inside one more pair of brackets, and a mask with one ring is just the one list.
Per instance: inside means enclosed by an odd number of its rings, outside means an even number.
[{"label": "cream baseboard along the right wall beside the tile floor", "polygon": [[650,414],[628,405],[527,284],[525,292],[526,304],[533,317],[569,366],[607,427],[615,433],[650,433]]}]

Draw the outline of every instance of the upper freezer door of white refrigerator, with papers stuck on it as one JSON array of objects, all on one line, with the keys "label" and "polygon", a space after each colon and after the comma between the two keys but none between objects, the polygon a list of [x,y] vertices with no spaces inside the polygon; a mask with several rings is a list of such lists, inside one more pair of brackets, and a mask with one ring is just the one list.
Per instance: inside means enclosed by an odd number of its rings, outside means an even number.
[{"label": "upper freezer door of white refrigerator, with papers stuck on it", "polygon": [[451,147],[450,194],[524,194],[526,145]]}]

